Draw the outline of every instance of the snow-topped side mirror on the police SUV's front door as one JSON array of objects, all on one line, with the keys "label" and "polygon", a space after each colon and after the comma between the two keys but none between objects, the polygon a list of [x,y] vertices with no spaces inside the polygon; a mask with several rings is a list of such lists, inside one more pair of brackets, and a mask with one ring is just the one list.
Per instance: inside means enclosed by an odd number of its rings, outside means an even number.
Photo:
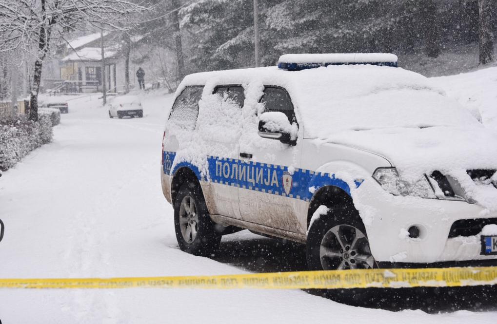
[{"label": "snow-topped side mirror on the police SUV's front door", "polygon": [[259,117],[260,137],[278,139],[284,144],[296,145],[297,132],[297,124],[290,124],[288,117],[282,112],[266,112]]}]

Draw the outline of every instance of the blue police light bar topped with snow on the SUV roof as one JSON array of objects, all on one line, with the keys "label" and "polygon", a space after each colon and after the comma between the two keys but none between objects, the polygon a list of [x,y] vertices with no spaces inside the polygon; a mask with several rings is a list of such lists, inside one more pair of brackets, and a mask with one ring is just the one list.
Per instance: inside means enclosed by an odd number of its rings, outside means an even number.
[{"label": "blue police light bar topped with snow on the SUV roof", "polygon": [[328,65],[370,64],[397,67],[397,55],[388,53],[332,53],[285,54],[280,56],[278,68],[300,71]]}]

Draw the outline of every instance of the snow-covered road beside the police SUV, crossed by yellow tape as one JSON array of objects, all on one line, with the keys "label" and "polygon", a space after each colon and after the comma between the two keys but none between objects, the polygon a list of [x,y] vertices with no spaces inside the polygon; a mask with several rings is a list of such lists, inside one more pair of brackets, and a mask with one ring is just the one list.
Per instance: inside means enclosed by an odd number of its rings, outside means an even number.
[{"label": "snow-covered road beside the police SUV, crossed by yellow tape", "polygon": [[[143,119],[109,119],[96,97],[70,101],[54,142],[0,179],[0,277],[115,277],[295,270],[264,258],[292,245],[224,239],[215,260],[178,250],[160,188],[170,96],[144,98]],[[253,241],[253,240],[258,241]],[[272,241],[271,241],[272,242]],[[230,248],[239,249],[230,252]],[[247,251],[248,249],[248,251]],[[232,259],[233,258],[233,259]],[[272,263],[271,263],[272,262]],[[489,323],[497,312],[428,315],[346,306],[302,291],[0,290],[2,323]]]}]

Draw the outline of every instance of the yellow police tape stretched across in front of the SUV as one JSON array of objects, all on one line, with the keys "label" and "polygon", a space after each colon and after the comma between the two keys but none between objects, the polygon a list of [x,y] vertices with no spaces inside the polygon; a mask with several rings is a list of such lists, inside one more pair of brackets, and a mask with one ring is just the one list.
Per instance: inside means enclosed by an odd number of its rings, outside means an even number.
[{"label": "yellow police tape stretched across in front of the SUV", "polygon": [[0,279],[0,288],[349,289],[496,285],[497,267],[354,269],[213,276]]}]

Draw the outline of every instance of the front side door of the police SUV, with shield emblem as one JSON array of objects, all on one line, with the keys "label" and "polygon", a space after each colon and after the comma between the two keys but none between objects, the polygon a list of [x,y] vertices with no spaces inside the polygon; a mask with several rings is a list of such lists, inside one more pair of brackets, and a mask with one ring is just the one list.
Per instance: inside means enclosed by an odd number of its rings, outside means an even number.
[{"label": "front side door of the police SUV, with shield emblem", "polygon": [[[282,112],[290,123],[296,123],[294,105],[286,89],[264,86],[259,103],[262,112]],[[244,173],[240,181],[239,197],[242,218],[261,224],[270,232],[284,230],[302,233],[298,213],[305,208],[303,197],[295,194],[294,173],[301,159],[301,142],[297,145],[283,144],[277,139],[258,135],[258,117],[244,122],[241,138],[241,166]],[[301,132],[299,132],[301,133]]]}]

